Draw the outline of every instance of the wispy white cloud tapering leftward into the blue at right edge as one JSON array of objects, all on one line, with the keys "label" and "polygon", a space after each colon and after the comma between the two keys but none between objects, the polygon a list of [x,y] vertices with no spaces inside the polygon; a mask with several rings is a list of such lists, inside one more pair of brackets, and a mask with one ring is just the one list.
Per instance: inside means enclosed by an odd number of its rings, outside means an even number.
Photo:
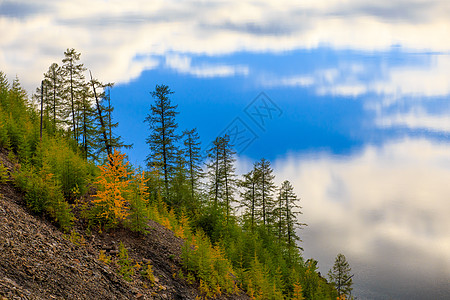
[{"label": "wispy white cloud tapering leftward into the blue at right edge", "polygon": [[450,55],[405,56],[422,59],[420,63],[401,65],[374,65],[370,59],[339,62],[334,68],[318,68],[304,74],[262,76],[260,83],[266,88],[301,87],[321,96],[358,99],[374,113],[374,125],[380,128],[450,133],[448,100],[441,101],[438,112],[426,110],[436,98],[450,96]]}]

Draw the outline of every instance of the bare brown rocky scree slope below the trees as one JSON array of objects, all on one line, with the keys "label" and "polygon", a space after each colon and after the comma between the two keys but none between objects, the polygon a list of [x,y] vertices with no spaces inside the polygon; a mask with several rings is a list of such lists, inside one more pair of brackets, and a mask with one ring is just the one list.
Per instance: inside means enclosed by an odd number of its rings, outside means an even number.
[{"label": "bare brown rocky scree slope below the trees", "polygon": [[[3,150],[0,161],[12,170]],[[0,184],[0,195],[1,300],[202,298],[197,283],[179,275],[183,240],[160,224],[151,222],[146,236],[128,230],[89,232],[81,226],[63,234],[32,215],[11,182]],[[117,272],[120,242],[134,272],[129,281]],[[153,282],[142,275],[148,264]],[[242,293],[221,298],[248,299]]]}]

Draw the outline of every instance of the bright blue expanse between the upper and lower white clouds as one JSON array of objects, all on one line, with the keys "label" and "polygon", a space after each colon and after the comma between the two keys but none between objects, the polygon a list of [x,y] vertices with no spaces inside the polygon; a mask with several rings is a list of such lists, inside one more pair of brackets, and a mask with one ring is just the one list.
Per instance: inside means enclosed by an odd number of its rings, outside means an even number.
[{"label": "bright blue expanse between the upper and lower white clouds", "polygon": [[[407,114],[417,108],[431,117],[450,112],[448,95],[439,91],[430,93],[428,88],[425,94],[421,94],[420,89],[402,94],[405,84],[396,86],[395,82],[390,82],[390,73],[398,70],[405,75],[422,72],[433,77],[433,72],[439,68],[435,61],[443,56],[448,59],[444,54],[410,53],[393,47],[387,52],[371,53],[319,48],[277,54],[190,57],[192,67],[247,68],[246,74],[225,77],[181,73],[167,66],[160,57],[160,67],[145,71],[138,79],[112,90],[116,120],[120,123],[117,133],[127,143],[134,144],[129,151],[130,160],[142,164],[148,153],[144,140],[149,132],[143,120],[152,102],[149,93],[156,84],[166,84],[175,92],[172,102],[178,105],[180,132],[196,127],[207,147],[238,118],[240,126],[246,128],[246,138],[251,140],[245,147],[238,147],[238,154],[251,159],[274,159],[287,153],[318,150],[346,155],[367,144],[380,145],[404,136],[447,141],[446,130],[377,123],[377,118]],[[426,73],[428,70],[429,74]],[[304,85],[276,83],[283,78],[295,77],[314,78],[314,82]],[[356,93],[332,91],[342,85],[359,86],[363,90]],[[393,85],[394,91],[378,91],[373,88],[376,85],[381,88]],[[245,112],[261,92],[280,110],[277,116],[265,117],[264,128]],[[386,101],[393,103],[378,108],[378,111],[374,108],[383,106]]]}]

